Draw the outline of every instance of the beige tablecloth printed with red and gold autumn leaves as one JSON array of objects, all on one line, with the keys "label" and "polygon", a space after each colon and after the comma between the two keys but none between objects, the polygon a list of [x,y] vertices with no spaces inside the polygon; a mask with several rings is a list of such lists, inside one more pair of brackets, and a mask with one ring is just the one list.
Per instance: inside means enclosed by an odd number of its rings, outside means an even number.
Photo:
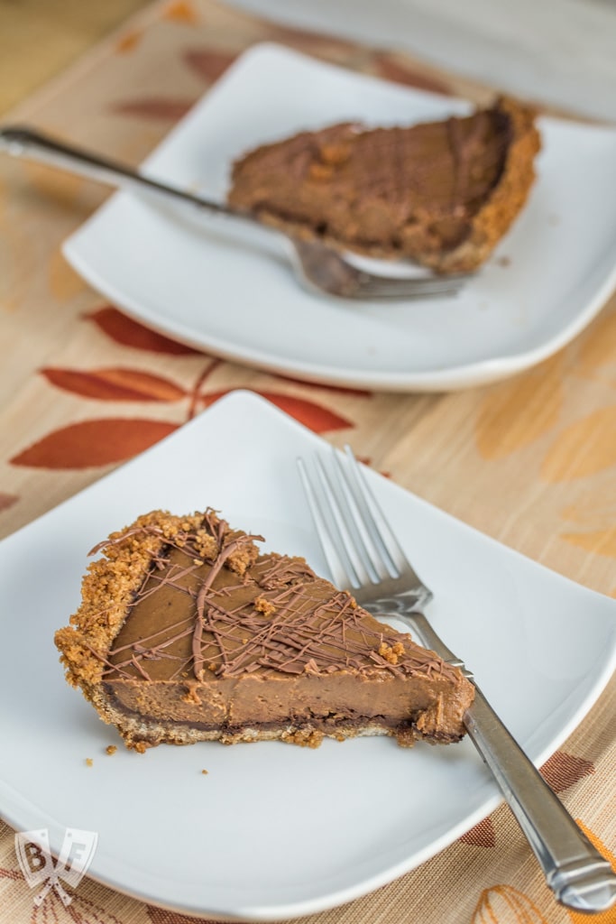
[{"label": "beige tablecloth printed with red and gold autumn leaves", "polygon": [[[485,102],[491,92],[407,55],[283,28],[211,0],[156,4],[12,116],[138,164],[250,44],[308,54]],[[62,240],[99,188],[0,161],[0,534],[8,535],[208,407],[249,388],[432,504],[616,596],[616,299],[571,346],[507,382],[451,395],[309,385],[181,346],[105,304]],[[589,836],[616,846],[612,682],[543,768]],[[611,720],[611,723],[610,723]],[[0,921],[180,924],[188,918],[84,880],[40,908],[0,823]],[[501,807],[378,892],[310,924],[568,924]],[[598,924],[616,922],[616,910]]]}]

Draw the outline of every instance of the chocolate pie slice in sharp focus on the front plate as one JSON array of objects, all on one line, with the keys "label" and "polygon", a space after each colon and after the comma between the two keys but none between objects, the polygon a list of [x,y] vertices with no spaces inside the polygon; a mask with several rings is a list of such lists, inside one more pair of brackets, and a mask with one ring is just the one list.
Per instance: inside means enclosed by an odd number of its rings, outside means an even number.
[{"label": "chocolate pie slice in sharp focus on the front plate", "polygon": [[474,688],[457,668],[256,541],[211,510],[154,511],[92,550],[55,644],[128,748],[464,735]]}]

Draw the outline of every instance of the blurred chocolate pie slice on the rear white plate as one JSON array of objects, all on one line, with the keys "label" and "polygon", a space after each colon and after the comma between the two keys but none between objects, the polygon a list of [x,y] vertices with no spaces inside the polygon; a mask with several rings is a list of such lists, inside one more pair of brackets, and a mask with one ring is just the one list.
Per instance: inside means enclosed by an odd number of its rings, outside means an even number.
[{"label": "blurred chocolate pie slice on the rear white plate", "polygon": [[333,125],[241,157],[228,201],[296,237],[468,272],[524,206],[539,147],[534,111],[508,99],[410,128]]}]

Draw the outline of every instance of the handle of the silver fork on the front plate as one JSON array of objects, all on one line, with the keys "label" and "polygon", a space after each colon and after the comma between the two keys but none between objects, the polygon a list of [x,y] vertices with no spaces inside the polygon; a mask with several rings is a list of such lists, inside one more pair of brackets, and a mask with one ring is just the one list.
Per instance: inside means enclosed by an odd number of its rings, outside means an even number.
[{"label": "handle of the silver fork on the front plate", "polygon": [[[444,661],[460,667],[475,684],[471,672],[441,641],[424,614],[408,613],[405,618],[416,627],[424,644]],[[564,906],[583,912],[605,911],[616,901],[616,875],[609,861],[590,843],[477,684],[475,687],[475,700],[464,716],[466,730],[494,774],[550,889]]]}]

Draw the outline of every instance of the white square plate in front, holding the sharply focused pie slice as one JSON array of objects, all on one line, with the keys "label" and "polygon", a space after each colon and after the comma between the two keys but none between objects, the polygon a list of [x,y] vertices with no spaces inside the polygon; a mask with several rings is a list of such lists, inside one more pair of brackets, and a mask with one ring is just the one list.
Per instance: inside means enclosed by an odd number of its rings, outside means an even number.
[{"label": "white square plate in front, holding the sharply focused pie slice", "polygon": [[[53,636],[79,605],[87,551],[140,513],[211,505],[326,574],[296,474],[296,456],[324,450],[272,405],[236,392],[0,543],[0,631],[11,652],[0,672],[0,815],[9,824],[49,828],[56,851],[66,827],[97,832],[89,874],[154,904],[275,920],[393,880],[499,803],[467,740],[412,751],[391,738],[317,750],[209,742],[139,755],[121,746],[110,757],[115,729],[66,685]],[[435,591],[435,627],[530,757],[547,760],[614,668],[616,602],[368,477]]]}]

